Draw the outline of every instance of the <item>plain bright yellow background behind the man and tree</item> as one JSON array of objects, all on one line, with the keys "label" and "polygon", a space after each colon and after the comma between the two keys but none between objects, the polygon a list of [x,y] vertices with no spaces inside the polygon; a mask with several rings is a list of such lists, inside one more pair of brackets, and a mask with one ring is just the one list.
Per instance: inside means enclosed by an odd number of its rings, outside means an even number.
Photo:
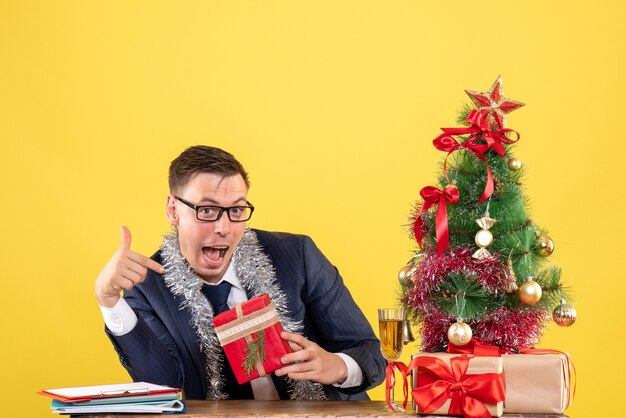
[{"label": "plain bright yellow background behind the man and tree", "polygon": [[541,346],[576,362],[572,417],[621,409],[625,13],[618,0],[1,1],[0,415],[50,416],[35,391],[128,379],[93,283],[121,224],[135,250],[158,247],[168,164],[194,144],[234,153],[251,225],[311,235],[375,324],[415,248],[404,224],[438,171],[431,140],[464,89],[499,74],[527,103],[508,126],[577,299],[577,323]]}]

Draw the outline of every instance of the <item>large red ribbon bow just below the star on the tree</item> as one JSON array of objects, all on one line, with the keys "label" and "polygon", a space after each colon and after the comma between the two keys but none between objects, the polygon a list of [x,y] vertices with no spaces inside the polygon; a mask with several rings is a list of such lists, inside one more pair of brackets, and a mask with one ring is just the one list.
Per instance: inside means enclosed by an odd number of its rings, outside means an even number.
[{"label": "large red ribbon bow just below the star on the tree", "polygon": [[[487,122],[485,120],[485,113],[477,110],[472,110],[467,115],[465,120],[470,123],[471,126],[467,128],[441,128],[443,133],[433,140],[433,145],[438,150],[448,153],[443,164],[443,170],[446,178],[448,178],[448,157],[451,153],[460,148],[472,152],[478,159],[485,163],[485,166],[487,166],[487,183],[485,184],[485,189],[483,190],[480,199],[478,199],[478,203],[482,203],[493,194],[494,190],[493,175],[491,174],[491,168],[485,159],[485,152],[487,152],[489,148],[493,148],[498,155],[502,157],[504,156],[504,146],[502,144],[512,144],[517,142],[520,135],[513,129],[498,129],[497,131],[493,131],[491,128],[491,122]],[[517,138],[515,140],[507,138],[504,135],[507,132],[514,132],[517,135]],[[455,135],[466,134],[471,134],[472,136],[461,144],[453,138]],[[479,139],[483,139],[485,143],[478,143],[477,141]]]}]

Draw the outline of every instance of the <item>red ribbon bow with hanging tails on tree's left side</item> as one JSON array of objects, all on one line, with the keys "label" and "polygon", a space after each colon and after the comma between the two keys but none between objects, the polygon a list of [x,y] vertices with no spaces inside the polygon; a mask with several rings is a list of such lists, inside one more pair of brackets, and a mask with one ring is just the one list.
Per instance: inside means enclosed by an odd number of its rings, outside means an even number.
[{"label": "red ribbon bow with hanging tails on tree's left side", "polygon": [[459,189],[453,186],[446,186],[443,190],[436,188],[435,186],[426,186],[420,190],[420,195],[424,199],[422,207],[420,208],[417,217],[415,218],[415,224],[413,225],[413,232],[417,244],[422,248],[422,228],[424,221],[422,220],[422,213],[430,209],[436,204],[439,204],[437,209],[437,216],[435,218],[436,235],[437,235],[437,254],[443,254],[443,251],[448,247],[448,203],[455,204],[459,201]]}]

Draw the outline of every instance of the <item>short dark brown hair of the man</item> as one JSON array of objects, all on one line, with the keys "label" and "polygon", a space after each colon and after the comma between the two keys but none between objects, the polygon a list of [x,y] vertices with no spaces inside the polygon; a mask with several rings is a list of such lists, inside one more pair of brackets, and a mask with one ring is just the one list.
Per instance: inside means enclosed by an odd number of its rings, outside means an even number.
[{"label": "short dark brown hair of the man", "polygon": [[230,177],[240,174],[250,187],[248,173],[235,157],[222,149],[195,145],[182,152],[170,164],[170,193],[180,193],[189,181],[200,173]]}]

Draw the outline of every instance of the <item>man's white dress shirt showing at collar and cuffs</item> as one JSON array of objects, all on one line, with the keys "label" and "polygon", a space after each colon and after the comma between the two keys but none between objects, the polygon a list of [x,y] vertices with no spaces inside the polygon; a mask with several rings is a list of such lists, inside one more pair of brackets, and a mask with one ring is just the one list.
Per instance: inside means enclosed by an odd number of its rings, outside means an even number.
[{"label": "man's white dress shirt showing at collar and cuffs", "polygon": [[[232,285],[230,293],[228,294],[228,307],[232,308],[242,302],[248,300],[248,295],[244,290],[239,278],[235,274],[235,269],[231,263],[224,273],[224,277],[218,283],[204,282],[207,286],[217,286],[223,281],[227,281]],[[115,306],[112,308],[105,308],[100,306],[102,316],[104,317],[104,323],[106,324],[111,334],[115,336],[121,336],[129,333],[137,325],[137,315],[133,309],[128,305],[128,302],[124,298],[120,298]],[[344,353],[335,353],[339,356],[346,367],[348,368],[348,377],[342,384],[335,384],[334,386],[340,388],[349,388],[359,386],[363,383],[363,371],[359,367],[356,361],[352,357]],[[277,400],[279,399],[276,387],[270,376],[259,377],[250,381],[252,386],[252,393],[254,399],[257,400]]]}]

